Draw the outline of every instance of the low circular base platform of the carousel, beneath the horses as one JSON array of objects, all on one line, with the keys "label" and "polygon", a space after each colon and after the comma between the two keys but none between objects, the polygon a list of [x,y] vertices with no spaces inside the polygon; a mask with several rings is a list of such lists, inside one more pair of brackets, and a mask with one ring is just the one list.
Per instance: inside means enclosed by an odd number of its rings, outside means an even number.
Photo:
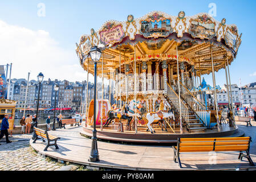
[{"label": "low circular base platform of the carousel, beneath the horses", "polygon": [[[93,127],[83,127],[80,131],[82,135],[92,137]],[[154,128],[156,133],[151,134],[147,130],[147,127],[138,127],[137,134],[135,131],[125,130],[120,133],[117,132],[117,124],[110,124],[107,127],[103,127],[103,131],[97,128],[97,138],[103,140],[113,140],[118,142],[132,142],[132,143],[176,143],[178,138],[210,138],[210,137],[242,137],[243,131],[238,130],[238,127],[229,127],[229,125],[221,125],[220,131],[217,129],[209,129],[207,131],[193,131],[189,133],[186,129],[183,129],[183,134],[180,134],[180,128],[176,127],[173,133],[170,128],[167,131],[161,131],[161,127]]]}]

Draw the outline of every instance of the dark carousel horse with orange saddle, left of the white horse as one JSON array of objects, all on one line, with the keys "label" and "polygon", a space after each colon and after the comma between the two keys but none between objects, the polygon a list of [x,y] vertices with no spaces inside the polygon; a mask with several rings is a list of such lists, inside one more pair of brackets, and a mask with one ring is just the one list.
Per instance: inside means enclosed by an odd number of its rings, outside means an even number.
[{"label": "dark carousel horse with orange saddle, left of the white horse", "polygon": [[[113,119],[127,119],[128,120],[128,126],[129,123],[132,121],[132,117],[138,117],[141,118],[141,115],[139,114],[139,109],[141,108],[140,102],[137,101],[137,104],[135,104],[135,100],[132,100],[129,105],[123,105],[121,111],[115,111],[115,110],[109,110],[108,111],[108,119],[107,122],[105,122],[104,126],[109,125],[109,123]],[[137,109],[137,113],[135,113],[135,108]]]}]

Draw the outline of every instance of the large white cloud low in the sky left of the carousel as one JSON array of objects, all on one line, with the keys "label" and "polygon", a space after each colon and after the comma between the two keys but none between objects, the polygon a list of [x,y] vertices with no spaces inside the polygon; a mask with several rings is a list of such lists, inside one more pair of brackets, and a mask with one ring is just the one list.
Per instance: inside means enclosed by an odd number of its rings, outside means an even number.
[{"label": "large white cloud low in the sky left of the carousel", "polygon": [[[44,79],[86,80],[87,72],[79,64],[74,49],[62,48],[44,30],[30,30],[0,20],[0,65],[13,63],[11,78],[36,79],[39,72]],[[90,76],[90,81],[92,81]]]}]

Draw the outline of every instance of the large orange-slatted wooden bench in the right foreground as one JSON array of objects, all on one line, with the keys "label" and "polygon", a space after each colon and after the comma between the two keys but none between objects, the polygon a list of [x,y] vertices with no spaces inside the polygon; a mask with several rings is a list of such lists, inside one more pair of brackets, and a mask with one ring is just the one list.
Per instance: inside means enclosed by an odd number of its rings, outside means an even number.
[{"label": "large orange-slatted wooden bench in the right foreground", "polygon": [[[250,158],[251,137],[231,137],[231,138],[178,138],[177,146],[173,146],[175,163],[181,167],[181,152],[210,152],[210,151],[239,151],[238,159],[243,157],[249,160],[251,166],[254,166]],[[246,152],[246,155],[243,154]]]}]

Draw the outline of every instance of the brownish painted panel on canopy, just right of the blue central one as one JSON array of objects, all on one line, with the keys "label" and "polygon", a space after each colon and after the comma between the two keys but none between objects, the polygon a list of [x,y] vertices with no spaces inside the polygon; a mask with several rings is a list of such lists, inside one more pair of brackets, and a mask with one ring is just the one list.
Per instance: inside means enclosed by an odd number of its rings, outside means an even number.
[{"label": "brownish painted panel on canopy, just right of the blue central one", "polygon": [[215,36],[215,22],[207,15],[198,16],[197,19],[190,19],[189,34],[193,38],[212,39]]}]

